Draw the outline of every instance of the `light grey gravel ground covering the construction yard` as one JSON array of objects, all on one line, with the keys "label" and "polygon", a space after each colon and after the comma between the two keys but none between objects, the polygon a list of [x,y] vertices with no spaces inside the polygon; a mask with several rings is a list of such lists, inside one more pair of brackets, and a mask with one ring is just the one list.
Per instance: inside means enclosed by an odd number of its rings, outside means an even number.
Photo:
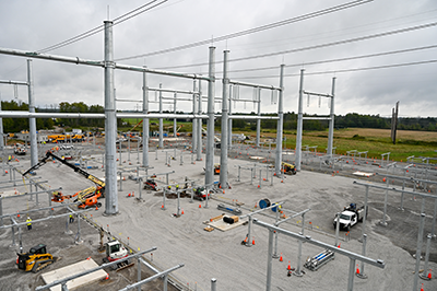
[{"label": "light grey gravel ground covering the construction yard", "polygon": [[[241,149],[244,150],[244,149]],[[258,152],[260,154],[260,152]],[[86,154],[83,154],[86,156]],[[203,184],[204,175],[202,168],[203,161],[196,164],[190,163],[190,153],[184,153],[185,163],[180,165],[178,151],[177,160],[172,162],[168,166],[165,164],[165,153],[158,151],[158,160],[155,160],[155,153],[150,153],[151,166],[153,172],[165,173],[175,171],[175,174],[169,176],[170,183],[179,183],[187,176],[190,179],[199,181]],[[243,152],[241,152],[241,155]],[[274,155],[274,154],[273,154]],[[310,235],[314,240],[322,241],[329,244],[334,244],[334,229],[332,220],[334,214],[343,209],[350,202],[363,203],[365,190],[363,186],[353,184],[354,178],[341,176],[339,173],[334,176],[329,168],[323,168],[318,173],[318,162],[314,161],[312,168],[308,167],[306,171],[299,172],[295,176],[286,176],[281,183],[281,179],[275,177],[273,185],[271,179],[262,181],[258,187],[258,178],[250,184],[250,171],[241,170],[240,181],[238,182],[237,165],[248,166],[250,162],[249,155],[246,154],[244,159],[229,160],[229,182],[232,189],[226,189],[225,193],[216,193],[213,199],[205,201],[190,202],[190,198],[181,198],[180,207],[184,209],[184,214],[179,218],[173,216],[177,212],[177,199],[166,200],[166,210],[162,209],[163,197],[155,195],[153,191],[142,191],[142,199],[139,200],[139,185],[137,182],[128,178],[126,173],[126,182],[122,182],[122,190],[118,191],[119,214],[105,217],[103,216],[104,207],[98,211],[92,212],[92,220],[103,225],[104,229],[109,230],[118,238],[129,242],[133,249],[146,249],[152,246],[157,246],[157,251],[153,255],[146,255],[149,260],[158,269],[167,269],[173,266],[184,263],[185,267],[174,271],[173,276],[180,286],[190,288],[191,290],[210,290],[211,278],[217,279],[217,290],[264,290],[267,281],[267,253],[268,253],[268,231],[261,226],[253,225],[251,238],[255,245],[246,247],[241,245],[245,238],[248,226],[238,226],[229,231],[221,232],[214,230],[205,232],[203,229],[210,218],[220,216],[223,211],[217,210],[218,203],[233,205],[236,201],[244,203],[241,210],[248,213],[260,199],[268,198],[273,202],[284,201],[284,209],[299,212],[310,208],[311,210],[305,216],[305,234]],[[104,172],[97,160],[101,155],[95,155],[96,159],[88,162],[88,165],[95,165],[95,170],[90,170],[96,176],[103,177]],[[133,165],[137,163],[137,154],[131,155],[128,160],[127,153],[122,155],[122,166],[128,166],[129,163]],[[215,162],[220,161],[220,156],[215,156]],[[251,162],[253,163],[253,162]],[[20,164],[23,168],[28,167],[28,161],[22,160]],[[264,163],[265,164],[265,163]],[[309,166],[305,165],[305,167]],[[344,165],[343,172],[354,171],[350,167],[361,165]],[[304,167],[304,168],[305,168]],[[378,166],[371,164],[363,165],[364,170],[373,170],[371,172],[379,171]],[[311,171],[312,170],[312,171]],[[151,174],[151,171],[149,172]],[[37,171],[37,175],[42,181],[48,181],[51,188],[62,186],[62,191],[67,194],[75,193],[82,188],[92,186],[93,184],[82,176],[75,174],[73,171],[64,165],[58,163],[48,163]],[[218,176],[215,176],[218,179]],[[1,176],[0,181],[7,181],[8,176]],[[364,178],[362,178],[364,181]],[[165,184],[165,176],[158,176],[158,185]],[[377,181],[375,181],[376,183]],[[20,191],[26,191],[23,186],[16,186]],[[134,191],[135,198],[128,197],[128,194]],[[408,197],[408,196],[405,196]],[[354,290],[412,290],[415,269],[415,259],[412,254],[415,253],[417,245],[417,229],[420,210],[422,201],[420,199],[405,198],[404,210],[398,209],[400,205],[400,195],[397,193],[389,193],[388,195],[388,225],[381,226],[378,222],[382,218],[385,191],[378,189],[370,189],[369,191],[369,214],[368,223],[366,226],[367,240],[367,256],[374,259],[382,259],[386,263],[385,269],[379,269],[371,266],[365,266],[364,272],[368,279],[354,278]],[[3,213],[14,213],[16,210],[25,210],[34,208],[35,201],[22,197],[3,201]],[[40,198],[44,207],[47,203]],[[104,200],[103,200],[104,202]],[[427,213],[425,234],[430,232],[432,216],[434,210],[434,202],[425,203],[425,212]],[[91,216],[87,216],[91,218]],[[274,213],[270,210],[264,214],[256,216],[260,221],[274,223]],[[33,217],[36,219],[36,216]],[[62,222],[63,221],[63,222]],[[90,226],[90,230],[83,230],[84,251],[66,252],[74,244],[73,235],[63,234],[64,219],[58,221],[56,224],[59,226],[57,230],[51,224],[40,225],[35,224],[29,232],[23,234],[24,248],[31,247],[33,244],[44,241],[49,246],[49,251],[56,254],[61,254],[67,257],[70,253],[74,253],[75,257],[81,259],[87,256],[96,256],[98,254],[96,247],[98,244],[98,234]],[[82,223],[81,225],[86,225]],[[71,228],[71,225],[70,225]],[[291,219],[288,222],[282,223],[281,228],[298,233],[302,230],[302,218]],[[24,231],[23,231],[24,232]],[[362,244],[357,241],[361,237],[361,224],[351,230],[349,240],[345,241],[344,232],[341,232],[340,242],[341,247],[351,252],[362,253]],[[33,273],[23,273],[15,269],[13,260],[15,259],[16,247],[10,247],[11,231],[0,230],[1,249],[0,253],[0,281],[1,286],[11,286],[4,290],[17,289],[17,282],[37,284],[38,276]],[[17,234],[16,234],[17,237]],[[129,238],[128,238],[129,237]],[[59,246],[56,246],[59,245]],[[86,251],[87,249],[87,251]],[[302,258],[304,264],[307,257],[314,256],[321,252],[319,247],[303,244]],[[425,241],[422,248],[424,256]],[[8,253],[8,255],[5,255]],[[84,254],[82,254],[84,253]],[[335,259],[329,261],[326,266],[317,271],[305,270],[303,277],[287,277],[286,267],[290,264],[293,268],[297,266],[298,243],[296,240],[280,235],[277,241],[277,254],[282,254],[284,261],[273,260],[272,273],[272,288],[271,290],[345,290],[347,288],[349,275],[349,258],[336,255]],[[63,258],[62,258],[63,260]],[[61,261],[62,261],[61,260]],[[78,259],[80,260],[80,259]],[[437,270],[437,245],[436,240],[432,240],[430,245],[430,263],[429,268]],[[59,265],[60,263],[59,261]],[[68,260],[66,260],[68,261]],[[57,263],[58,264],[58,263]],[[421,269],[424,263],[421,263]],[[46,270],[55,269],[56,265],[50,266]],[[361,268],[361,265],[359,265]],[[46,271],[43,270],[43,271]],[[20,279],[16,280],[16,276]],[[114,279],[111,282],[104,282],[102,286],[94,287],[93,290],[118,290],[111,289],[113,284],[119,282],[121,288],[122,283],[127,282],[121,279]],[[424,283],[424,290],[437,290],[436,280],[424,281],[420,279],[420,286]],[[126,283],[127,284],[127,283]],[[125,284],[125,286],[126,286]],[[21,284],[20,284],[21,286]],[[28,289],[32,289],[29,287]],[[1,290],[1,289],[0,289]],[[20,290],[20,289],[17,289]],[[22,289],[27,290],[27,289]],[[143,290],[146,289],[145,287]],[[417,289],[420,290],[420,288]]]}]

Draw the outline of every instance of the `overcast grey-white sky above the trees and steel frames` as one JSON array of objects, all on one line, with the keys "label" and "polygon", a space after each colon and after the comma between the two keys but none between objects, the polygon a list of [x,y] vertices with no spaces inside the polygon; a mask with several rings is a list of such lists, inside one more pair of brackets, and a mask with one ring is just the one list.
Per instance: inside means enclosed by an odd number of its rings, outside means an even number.
[{"label": "overcast grey-white sky above the trees and steel frames", "polygon": [[[437,25],[391,33],[386,36],[341,45],[312,48],[339,40],[375,36],[381,33],[436,23],[437,1],[435,0],[375,0],[330,14],[294,22],[271,30],[214,42],[215,37],[259,27],[323,9],[340,5],[352,0],[168,0],[166,3],[139,14],[114,26],[115,59],[178,47],[199,40],[211,43],[174,53],[118,60],[118,63],[147,66],[153,69],[206,74],[209,46],[216,47],[217,61],[223,50],[229,50],[229,59],[255,57],[277,53],[271,57],[232,61],[229,77],[265,85],[279,85],[280,65],[285,68],[284,112],[297,112],[299,71],[305,69],[304,90],[330,93],[332,78],[335,82],[335,114],[359,113],[391,115],[391,108],[400,101],[401,117],[437,116]],[[105,20],[114,20],[146,3],[137,0],[21,0],[0,1],[0,47],[37,51],[70,37],[97,27]],[[108,9],[109,7],[109,9]],[[108,12],[109,11],[109,12]],[[46,54],[79,57],[92,60],[104,58],[103,32],[69,46]],[[281,53],[296,50],[300,51]],[[339,60],[358,56],[390,53],[417,48],[417,50],[376,57],[355,58],[311,65],[326,60]],[[383,69],[368,69],[381,66],[397,66]],[[191,67],[179,67],[196,65]],[[178,67],[178,68],[172,68]],[[255,70],[275,67],[268,70]],[[366,69],[367,68],[367,69]],[[223,65],[216,65],[221,77]],[[250,69],[250,70],[247,70]],[[361,70],[355,70],[361,69]],[[244,70],[235,72],[235,70]],[[103,69],[62,62],[33,60],[34,92],[37,106],[50,107],[60,102],[84,102],[88,105],[104,104]],[[0,55],[0,80],[26,81],[26,59]],[[163,75],[150,75],[149,85],[165,89],[192,90],[192,81]],[[142,77],[140,73],[116,71],[117,98],[140,101]],[[206,94],[206,83],[202,91]],[[221,96],[222,82],[215,83],[216,96]],[[19,98],[28,103],[27,89],[0,84],[1,98]],[[164,94],[172,96],[173,94]],[[155,94],[151,93],[151,100]],[[182,95],[180,95],[182,97]],[[253,90],[240,88],[239,97],[253,98]],[[329,114],[328,100],[311,97],[304,110],[308,114]],[[307,106],[309,105],[309,106]],[[178,102],[178,110],[191,110],[191,103]],[[118,102],[118,109],[141,108],[140,102]],[[205,104],[203,108],[206,108]],[[215,109],[220,110],[221,104]],[[276,112],[270,91],[261,91],[261,110]],[[151,110],[157,105],[151,105]],[[164,109],[173,109],[165,104]],[[256,110],[252,103],[235,103],[233,112]]]}]

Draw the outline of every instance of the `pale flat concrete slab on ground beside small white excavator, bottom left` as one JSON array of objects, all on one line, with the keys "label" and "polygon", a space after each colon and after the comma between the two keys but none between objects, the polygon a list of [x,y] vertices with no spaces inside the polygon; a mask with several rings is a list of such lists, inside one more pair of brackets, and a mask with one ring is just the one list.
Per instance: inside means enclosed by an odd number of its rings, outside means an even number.
[{"label": "pale flat concrete slab on ground beside small white excavator, bottom left", "polygon": [[[49,271],[46,273],[43,273],[43,280],[46,284],[51,283],[56,280],[60,280],[90,269],[93,269],[95,267],[98,267],[97,263],[95,263],[94,259],[90,258],[90,259],[85,259],[82,261],[79,261],[76,264],[73,265],[69,265],[67,267],[63,268],[59,268],[57,270],[54,271]],[[80,278],[73,279],[71,281],[67,282],[67,288],[69,290],[73,290],[74,288],[79,288],[79,287],[83,287],[87,283],[92,283],[94,281],[98,281],[98,280],[103,280],[106,278],[108,273],[104,270],[97,270],[91,273],[87,273],[85,276],[82,276]],[[51,291],[61,291],[61,284],[55,286],[52,288],[50,288]]]}]

